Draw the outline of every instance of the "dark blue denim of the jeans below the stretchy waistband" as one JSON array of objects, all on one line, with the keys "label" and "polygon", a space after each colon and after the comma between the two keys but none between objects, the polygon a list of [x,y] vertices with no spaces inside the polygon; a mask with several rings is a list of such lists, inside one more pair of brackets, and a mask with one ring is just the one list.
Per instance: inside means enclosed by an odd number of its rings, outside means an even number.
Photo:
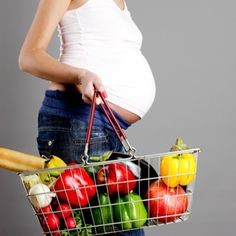
[{"label": "dark blue denim of the jeans below the stretchy waistband", "polygon": [[[39,113],[37,143],[40,155],[56,155],[66,163],[73,161],[81,163],[81,154],[84,152],[85,147],[86,130],[87,124],[82,120]],[[98,156],[109,150],[123,151],[123,146],[116,137],[115,132],[94,126],[88,154]],[[143,236],[145,234],[143,229],[138,229],[116,233],[116,235]]]}]

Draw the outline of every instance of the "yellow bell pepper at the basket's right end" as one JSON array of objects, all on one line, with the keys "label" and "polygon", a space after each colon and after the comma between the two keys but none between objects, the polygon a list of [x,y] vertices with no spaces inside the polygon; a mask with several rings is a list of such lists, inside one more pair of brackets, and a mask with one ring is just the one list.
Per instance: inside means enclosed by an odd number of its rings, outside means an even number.
[{"label": "yellow bell pepper at the basket's right end", "polygon": [[196,176],[195,156],[185,153],[162,157],[160,174],[163,176],[163,182],[169,187],[190,184]]}]

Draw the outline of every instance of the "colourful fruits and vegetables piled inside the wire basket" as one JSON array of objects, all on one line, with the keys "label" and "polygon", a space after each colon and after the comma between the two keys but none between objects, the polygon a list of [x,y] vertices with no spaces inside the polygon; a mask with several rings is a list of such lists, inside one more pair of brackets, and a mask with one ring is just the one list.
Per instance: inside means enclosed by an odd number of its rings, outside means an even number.
[{"label": "colourful fruits and vegetables piled inside the wire basket", "polygon": [[[188,149],[181,138],[170,151]],[[190,153],[163,156],[160,173],[144,160],[100,164],[110,152],[91,157],[92,166],[66,164],[52,156],[48,172],[24,176],[29,199],[45,233],[93,235],[140,228],[148,219],[173,222],[188,209],[186,186],[196,175]],[[54,169],[71,166],[71,168]],[[150,177],[151,180],[150,180]]]}]

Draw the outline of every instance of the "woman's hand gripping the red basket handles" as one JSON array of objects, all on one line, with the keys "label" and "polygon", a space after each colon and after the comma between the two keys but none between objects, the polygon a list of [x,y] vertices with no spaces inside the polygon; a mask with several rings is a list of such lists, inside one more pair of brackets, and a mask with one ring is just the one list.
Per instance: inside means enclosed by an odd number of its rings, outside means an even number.
[{"label": "woman's hand gripping the red basket handles", "polygon": [[[83,72],[79,74],[79,84],[76,85],[79,92],[82,94],[82,99],[86,103],[92,103],[94,88],[99,91],[104,98],[107,98],[106,90],[102,84],[100,77],[92,71],[83,69]],[[100,97],[96,99],[96,104],[101,104]]]}]

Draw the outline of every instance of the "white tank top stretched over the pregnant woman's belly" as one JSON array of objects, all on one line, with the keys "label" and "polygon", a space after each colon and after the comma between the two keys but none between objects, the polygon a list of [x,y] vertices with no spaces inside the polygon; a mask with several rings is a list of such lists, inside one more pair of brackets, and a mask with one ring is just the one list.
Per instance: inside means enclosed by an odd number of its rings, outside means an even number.
[{"label": "white tank top stretched over the pregnant woman's belly", "polygon": [[125,5],[114,0],[88,0],[68,10],[58,24],[59,61],[96,73],[107,100],[141,118],[156,93],[149,64],[141,52],[142,33]]}]

